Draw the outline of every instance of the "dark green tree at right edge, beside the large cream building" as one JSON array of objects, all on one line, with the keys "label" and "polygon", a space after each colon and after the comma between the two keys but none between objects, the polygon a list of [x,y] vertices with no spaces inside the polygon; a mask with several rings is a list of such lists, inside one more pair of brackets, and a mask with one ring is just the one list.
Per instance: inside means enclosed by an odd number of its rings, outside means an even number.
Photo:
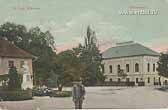
[{"label": "dark green tree at right edge, beside the large cream building", "polygon": [[168,54],[161,53],[157,71],[159,72],[159,75],[168,77]]}]

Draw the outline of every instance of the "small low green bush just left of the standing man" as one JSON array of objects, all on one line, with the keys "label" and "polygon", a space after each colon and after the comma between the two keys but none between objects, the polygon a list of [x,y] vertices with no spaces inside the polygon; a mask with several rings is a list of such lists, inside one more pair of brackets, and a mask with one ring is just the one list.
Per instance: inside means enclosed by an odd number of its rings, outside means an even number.
[{"label": "small low green bush just left of the standing man", "polygon": [[50,97],[71,97],[71,91],[55,91],[51,93]]}]

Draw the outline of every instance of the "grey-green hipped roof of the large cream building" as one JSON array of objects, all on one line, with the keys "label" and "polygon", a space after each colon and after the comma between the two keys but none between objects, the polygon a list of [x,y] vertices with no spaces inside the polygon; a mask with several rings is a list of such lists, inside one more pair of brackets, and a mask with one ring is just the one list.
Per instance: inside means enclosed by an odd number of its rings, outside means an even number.
[{"label": "grey-green hipped roof of the large cream building", "polygon": [[103,59],[131,56],[160,56],[160,54],[138,43],[111,47],[102,53]]}]

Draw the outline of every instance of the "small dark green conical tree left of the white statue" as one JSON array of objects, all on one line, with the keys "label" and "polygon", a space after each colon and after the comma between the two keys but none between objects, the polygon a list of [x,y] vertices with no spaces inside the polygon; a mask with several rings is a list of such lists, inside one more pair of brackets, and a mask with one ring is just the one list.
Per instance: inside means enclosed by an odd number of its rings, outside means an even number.
[{"label": "small dark green conical tree left of the white statue", "polygon": [[12,67],[9,69],[9,89],[21,89],[21,75],[17,73],[16,67]]}]

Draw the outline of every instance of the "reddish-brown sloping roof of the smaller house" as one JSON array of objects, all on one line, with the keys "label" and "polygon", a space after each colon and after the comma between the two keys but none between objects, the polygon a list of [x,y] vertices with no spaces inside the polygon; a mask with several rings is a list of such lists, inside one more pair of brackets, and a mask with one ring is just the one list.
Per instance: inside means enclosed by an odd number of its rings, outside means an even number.
[{"label": "reddish-brown sloping roof of the smaller house", "polygon": [[33,58],[33,55],[0,37],[0,57]]}]

